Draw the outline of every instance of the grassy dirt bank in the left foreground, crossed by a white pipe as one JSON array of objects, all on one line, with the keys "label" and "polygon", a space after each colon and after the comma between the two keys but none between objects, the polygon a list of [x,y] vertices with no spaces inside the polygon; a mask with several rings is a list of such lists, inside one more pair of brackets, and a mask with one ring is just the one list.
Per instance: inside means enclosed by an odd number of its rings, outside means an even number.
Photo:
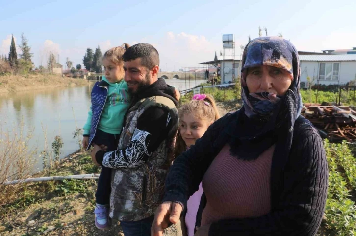
[{"label": "grassy dirt bank in the left foreground, crossed by a white pipe", "polygon": [[[33,177],[99,173],[90,155],[74,153]],[[0,235],[120,235],[120,225],[100,231],[94,225],[95,180],[62,180],[0,186],[18,196],[0,205]]]}]

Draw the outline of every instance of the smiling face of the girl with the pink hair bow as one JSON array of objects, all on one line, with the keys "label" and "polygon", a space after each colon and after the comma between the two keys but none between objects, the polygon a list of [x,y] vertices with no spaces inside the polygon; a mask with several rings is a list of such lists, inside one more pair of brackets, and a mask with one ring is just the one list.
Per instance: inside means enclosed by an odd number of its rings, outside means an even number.
[{"label": "smiling face of the girl with the pink hair bow", "polygon": [[195,144],[201,138],[212,122],[195,118],[192,114],[185,114],[180,119],[180,135],[187,147]]}]

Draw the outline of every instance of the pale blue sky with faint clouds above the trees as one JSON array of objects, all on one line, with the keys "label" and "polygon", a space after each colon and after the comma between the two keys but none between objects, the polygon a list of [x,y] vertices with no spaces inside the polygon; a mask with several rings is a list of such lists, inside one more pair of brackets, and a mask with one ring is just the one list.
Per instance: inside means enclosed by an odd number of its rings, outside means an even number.
[{"label": "pale blue sky with faint clouds above the trees", "polygon": [[[162,70],[199,66],[222,49],[222,34],[234,34],[236,55],[258,26],[281,33],[301,51],[356,47],[355,0],[0,0],[0,55],[11,33],[29,40],[36,66],[49,51],[60,63],[82,64],[87,47],[102,52],[122,43],[151,43]],[[18,52],[19,53],[19,52]]]}]

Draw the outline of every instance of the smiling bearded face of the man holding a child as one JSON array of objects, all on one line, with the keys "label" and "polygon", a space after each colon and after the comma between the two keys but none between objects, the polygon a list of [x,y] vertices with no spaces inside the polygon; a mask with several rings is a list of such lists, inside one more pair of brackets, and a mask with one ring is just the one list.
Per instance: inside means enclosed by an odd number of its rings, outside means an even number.
[{"label": "smiling bearded face of the man holding a child", "polygon": [[141,65],[141,58],[124,62],[124,71],[124,80],[127,83],[128,91],[132,94],[136,94],[153,84],[151,71]]}]

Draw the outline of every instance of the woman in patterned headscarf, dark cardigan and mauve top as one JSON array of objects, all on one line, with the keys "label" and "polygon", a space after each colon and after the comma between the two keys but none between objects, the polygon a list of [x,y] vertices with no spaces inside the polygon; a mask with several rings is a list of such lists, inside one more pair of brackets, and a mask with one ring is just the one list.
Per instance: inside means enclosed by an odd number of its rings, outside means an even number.
[{"label": "woman in patterned headscarf, dark cardigan and mauve top", "polygon": [[298,51],[279,37],[254,39],[241,72],[243,107],[175,160],[152,235],[178,221],[201,181],[196,236],[317,233],[328,167],[319,133],[300,116]]}]

